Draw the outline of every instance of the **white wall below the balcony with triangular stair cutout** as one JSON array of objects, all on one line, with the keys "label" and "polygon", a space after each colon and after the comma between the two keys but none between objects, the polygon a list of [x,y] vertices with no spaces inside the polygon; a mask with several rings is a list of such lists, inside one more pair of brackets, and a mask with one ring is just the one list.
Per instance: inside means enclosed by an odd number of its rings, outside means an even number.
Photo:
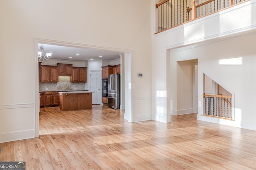
[{"label": "white wall below the balcony with triangular stair cutout", "polygon": [[[172,109],[177,108],[177,73],[176,66],[173,65],[177,61],[198,59],[198,119],[256,130],[254,108],[247,102],[255,101],[252,98],[255,92],[253,84],[256,83],[254,81],[256,70],[253,64],[256,55],[253,47],[256,36],[255,10],[256,1],[251,0],[154,34],[156,15],[155,8],[152,7],[152,63],[154,63],[152,64],[152,117],[154,119],[170,122],[168,115]],[[224,66],[218,63],[219,59],[235,57],[242,57],[243,64]],[[201,116],[203,73],[234,92],[235,121]],[[159,96],[158,92],[162,92],[163,95]],[[158,114],[159,108],[162,109],[161,114]],[[171,108],[170,112],[168,112],[169,108]]]}]

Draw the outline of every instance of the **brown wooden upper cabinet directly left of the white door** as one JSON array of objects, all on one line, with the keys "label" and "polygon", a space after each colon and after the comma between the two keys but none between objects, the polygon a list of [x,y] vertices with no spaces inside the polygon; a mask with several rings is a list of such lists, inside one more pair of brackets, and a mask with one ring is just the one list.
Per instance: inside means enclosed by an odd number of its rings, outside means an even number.
[{"label": "brown wooden upper cabinet directly left of the white door", "polygon": [[87,67],[72,67],[71,82],[87,82]]}]

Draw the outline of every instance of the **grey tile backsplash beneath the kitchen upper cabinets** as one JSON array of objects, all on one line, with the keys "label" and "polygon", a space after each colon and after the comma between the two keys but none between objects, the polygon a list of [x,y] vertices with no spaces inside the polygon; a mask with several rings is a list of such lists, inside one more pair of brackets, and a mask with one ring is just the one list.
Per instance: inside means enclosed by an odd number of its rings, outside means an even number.
[{"label": "grey tile backsplash beneath the kitchen upper cabinets", "polygon": [[39,91],[46,91],[45,89],[48,88],[48,91],[51,90],[88,90],[85,89],[86,83],[72,83],[70,82],[70,77],[68,76],[59,76],[59,82],[57,83],[49,83],[49,82],[39,82]]}]

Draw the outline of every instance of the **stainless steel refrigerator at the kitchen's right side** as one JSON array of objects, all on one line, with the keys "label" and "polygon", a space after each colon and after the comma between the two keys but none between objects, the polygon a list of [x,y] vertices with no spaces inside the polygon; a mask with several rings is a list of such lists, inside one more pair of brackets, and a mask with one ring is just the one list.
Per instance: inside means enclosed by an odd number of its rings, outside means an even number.
[{"label": "stainless steel refrigerator at the kitchen's right side", "polygon": [[108,74],[108,107],[120,109],[120,74]]}]

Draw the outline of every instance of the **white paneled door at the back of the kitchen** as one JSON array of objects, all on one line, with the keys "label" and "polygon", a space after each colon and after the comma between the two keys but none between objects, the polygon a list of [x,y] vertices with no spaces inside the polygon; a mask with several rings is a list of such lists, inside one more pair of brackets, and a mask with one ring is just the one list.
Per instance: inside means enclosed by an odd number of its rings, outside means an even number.
[{"label": "white paneled door at the back of the kitchen", "polygon": [[94,93],[92,93],[92,104],[100,104],[101,98],[101,79],[100,79],[100,71],[91,71],[90,78],[90,89]]}]

